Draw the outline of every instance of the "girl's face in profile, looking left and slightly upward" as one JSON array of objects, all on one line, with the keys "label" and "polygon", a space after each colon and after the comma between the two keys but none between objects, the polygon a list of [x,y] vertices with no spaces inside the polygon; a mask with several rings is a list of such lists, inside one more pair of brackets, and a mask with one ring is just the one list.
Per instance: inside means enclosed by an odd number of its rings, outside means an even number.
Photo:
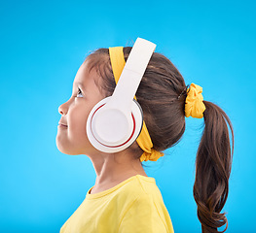
[{"label": "girl's face in profile, looking left and slightly upward", "polygon": [[86,130],[91,109],[104,98],[94,83],[97,79],[100,78],[96,71],[92,69],[89,74],[87,62],[82,64],[73,83],[72,96],[58,108],[59,122],[67,125],[58,125],[55,138],[57,149],[63,153],[90,155],[98,152],[91,146]]}]

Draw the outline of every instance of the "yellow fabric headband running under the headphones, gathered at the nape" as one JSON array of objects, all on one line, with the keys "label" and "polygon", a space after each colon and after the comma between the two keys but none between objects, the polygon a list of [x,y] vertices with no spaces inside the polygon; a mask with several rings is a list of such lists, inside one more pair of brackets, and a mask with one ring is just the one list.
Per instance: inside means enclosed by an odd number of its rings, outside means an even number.
[{"label": "yellow fabric headband running under the headphones, gathered at the nape", "polygon": [[[109,55],[115,81],[118,83],[122,71],[126,65],[123,47],[109,48]],[[136,100],[136,96],[134,96],[134,98]],[[137,137],[136,142],[138,146],[144,150],[143,154],[139,158],[140,162],[148,160],[157,161],[161,156],[164,156],[163,152],[153,149],[153,144],[144,120],[141,132]]]}]

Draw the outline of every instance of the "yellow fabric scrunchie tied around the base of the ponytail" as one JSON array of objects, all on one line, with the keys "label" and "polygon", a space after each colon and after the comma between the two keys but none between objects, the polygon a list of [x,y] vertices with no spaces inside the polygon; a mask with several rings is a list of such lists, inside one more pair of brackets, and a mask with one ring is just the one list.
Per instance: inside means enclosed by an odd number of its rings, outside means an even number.
[{"label": "yellow fabric scrunchie tied around the base of the ponytail", "polygon": [[202,87],[195,83],[191,83],[190,88],[187,89],[187,98],[185,102],[185,116],[202,118],[205,111],[205,105],[202,100]]}]

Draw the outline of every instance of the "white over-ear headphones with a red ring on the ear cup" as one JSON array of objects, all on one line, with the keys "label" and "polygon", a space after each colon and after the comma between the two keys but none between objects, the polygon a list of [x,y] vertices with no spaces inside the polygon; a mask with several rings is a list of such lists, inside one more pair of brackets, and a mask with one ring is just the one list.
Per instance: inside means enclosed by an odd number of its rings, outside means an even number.
[{"label": "white over-ear headphones with a red ring on the ear cup", "polygon": [[118,152],[127,149],[138,137],[143,112],[133,97],[155,49],[155,44],[137,38],[112,96],[92,108],[87,135],[95,149]]}]

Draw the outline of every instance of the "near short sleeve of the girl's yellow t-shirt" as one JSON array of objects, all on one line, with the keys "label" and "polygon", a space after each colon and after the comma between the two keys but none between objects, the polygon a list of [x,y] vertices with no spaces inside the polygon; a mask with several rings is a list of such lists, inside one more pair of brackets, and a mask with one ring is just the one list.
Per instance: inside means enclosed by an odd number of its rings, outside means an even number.
[{"label": "near short sleeve of the girl's yellow t-shirt", "polygon": [[151,196],[143,194],[129,206],[120,222],[120,233],[169,233]]}]

